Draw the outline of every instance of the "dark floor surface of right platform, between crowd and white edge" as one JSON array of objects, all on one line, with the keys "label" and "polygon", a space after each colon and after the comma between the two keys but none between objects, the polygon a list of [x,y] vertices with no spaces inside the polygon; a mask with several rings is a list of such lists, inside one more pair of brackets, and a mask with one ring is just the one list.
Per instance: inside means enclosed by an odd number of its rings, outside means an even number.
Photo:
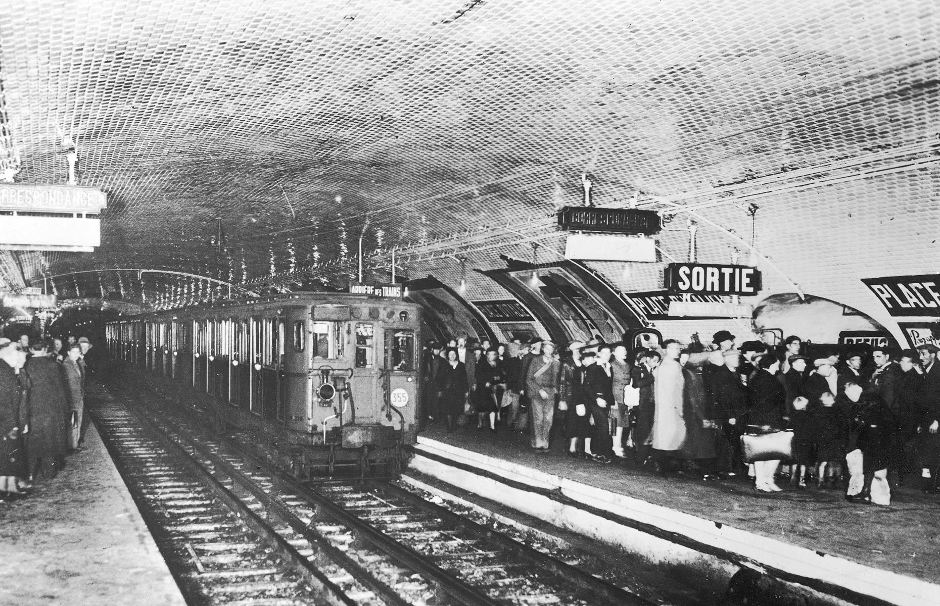
[{"label": "dark floor surface of right platform, between crowd and white edge", "polygon": [[940,583],[940,497],[916,489],[894,489],[887,507],[847,503],[844,488],[796,489],[781,483],[783,492],[764,494],[743,477],[706,482],[688,475],[659,476],[631,462],[603,465],[570,458],[560,441],[553,441],[548,453],[535,453],[527,436],[502,428],[496,434],[476,427],[454,433],[444,429],[433,424],[421,435],[815,552]]}]

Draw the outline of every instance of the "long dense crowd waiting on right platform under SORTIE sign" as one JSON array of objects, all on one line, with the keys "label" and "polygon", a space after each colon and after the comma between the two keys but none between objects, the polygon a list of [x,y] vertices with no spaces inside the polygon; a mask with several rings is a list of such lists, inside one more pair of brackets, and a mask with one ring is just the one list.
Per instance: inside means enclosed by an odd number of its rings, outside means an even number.
[{"label": "long dense crowd waiting on right platform under SORTIE sign", "polygon": [[711,347],[466,336],[426,344],[423,416],[446,431],[476,423],[525,431],[535,452],[632,462],[656,474],[746,474],[761,492],[845,489],[888,505],[892,486],[940,483],[940,365],[916,350],[837,350],[810,359],[798,336],[776,347],[729,331]]}]

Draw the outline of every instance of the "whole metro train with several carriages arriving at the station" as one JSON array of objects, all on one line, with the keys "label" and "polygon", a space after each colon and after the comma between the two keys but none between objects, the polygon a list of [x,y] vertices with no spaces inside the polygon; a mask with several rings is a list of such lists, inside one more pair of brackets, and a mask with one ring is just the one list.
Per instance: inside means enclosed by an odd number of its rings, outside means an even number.
[{"label": "whole metro train with several carriages arriving at the station", "polygon": [[305,292],[121,318],[105,336],[134,379],[311,479],[399,472],[417,432],[420,327],[400,297]]}]

